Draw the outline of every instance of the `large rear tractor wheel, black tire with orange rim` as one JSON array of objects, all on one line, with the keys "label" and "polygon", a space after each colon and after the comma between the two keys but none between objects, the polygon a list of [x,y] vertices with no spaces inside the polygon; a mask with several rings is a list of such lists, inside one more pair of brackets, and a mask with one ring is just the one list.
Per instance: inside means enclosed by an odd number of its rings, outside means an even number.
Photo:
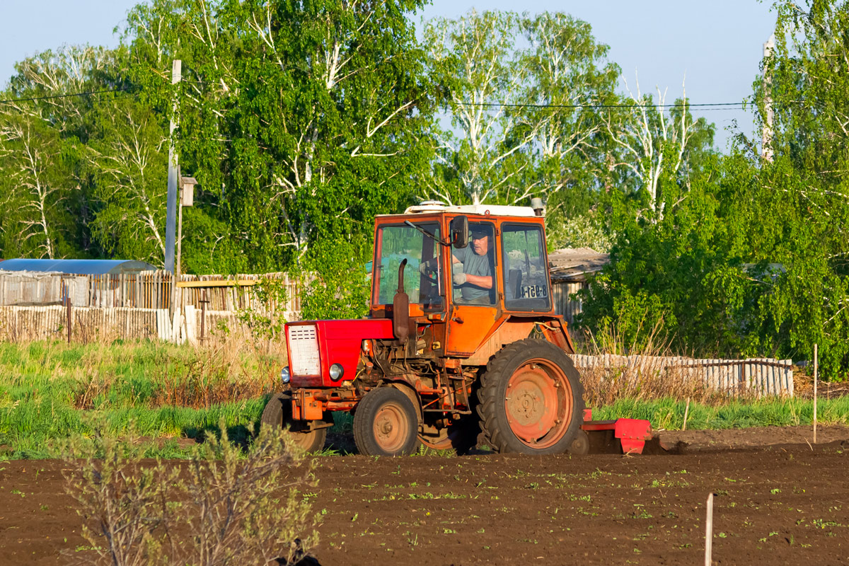
[{"label": "large rear tractor wheel, black tire with orange rim", "polygon": [[580,432],[581,378],[569,356],[542,339],[505,347],[478,389],[484,440],[499,452],[561,454]]}]

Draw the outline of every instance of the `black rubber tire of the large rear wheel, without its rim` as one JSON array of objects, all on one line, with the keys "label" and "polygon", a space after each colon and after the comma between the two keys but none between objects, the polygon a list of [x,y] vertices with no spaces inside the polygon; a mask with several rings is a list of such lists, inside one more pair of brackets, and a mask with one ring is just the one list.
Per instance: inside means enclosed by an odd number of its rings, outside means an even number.
[{"label": "black rubber tire of the large rear wheel, without its rim", "polygon": [[[543,449],[532,448],[519,440],[510,430],[503,410],[504,390],[509,378],[524,361],[535,358],[552,361],[563,370],[569,379],[572,392],[571,423],[556,445]],[[544,339],[518,340],[493,356],[486,365],[486,372],[481,376],[481,387],[477,395],[477,413],[481,417],[481,442],[501,453],[561,454],[569,450],[572,440],[581,429],[584,409],[581,376],[569,356]]]}]

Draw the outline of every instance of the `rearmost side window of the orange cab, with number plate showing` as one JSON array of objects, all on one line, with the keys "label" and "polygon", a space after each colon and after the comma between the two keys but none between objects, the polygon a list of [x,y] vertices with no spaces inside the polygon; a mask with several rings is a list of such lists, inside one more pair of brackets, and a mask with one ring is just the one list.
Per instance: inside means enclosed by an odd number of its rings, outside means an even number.
[{"label": "rearmost side window of the orange cab, with number plate showing", "polygon": [[548,289],[543,230],[505,224],[502,232],[504,306],[509,311],[548,311]]}]

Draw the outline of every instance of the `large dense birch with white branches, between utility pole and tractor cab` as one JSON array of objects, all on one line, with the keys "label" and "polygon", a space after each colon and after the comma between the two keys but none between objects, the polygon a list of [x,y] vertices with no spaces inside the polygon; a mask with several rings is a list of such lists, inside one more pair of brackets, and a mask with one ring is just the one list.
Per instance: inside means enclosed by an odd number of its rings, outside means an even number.
[{"label": "large dense birch with white branches, between utility pole and tractor cab", "polygon": [[361,245],[375,213],[406,204],[429,145],[404,15],[418,6],[187,0],[131,14],[135,76],[160,108],[177,95],[183,170],[215,188],[237,261],[276,269],[321,238]]}]

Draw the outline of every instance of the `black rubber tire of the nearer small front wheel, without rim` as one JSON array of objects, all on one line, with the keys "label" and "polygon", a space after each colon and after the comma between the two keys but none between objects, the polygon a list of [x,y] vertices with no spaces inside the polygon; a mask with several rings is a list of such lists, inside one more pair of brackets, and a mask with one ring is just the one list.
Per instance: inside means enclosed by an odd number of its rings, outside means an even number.
[{"label": "black rubber tire of the nearer small front wheel, without rim", "polygon": [[[380,445],[374,432],[376,418],[387,407],[403,417],[403,423],[396,426],[406,423],[406,428],[398,431],[401,441],[392,451]],[[378,387],[363,396],[354,412],[353,429],[357,450],[365,456],[408,456],[419,451],[419,412],[413,401],[394,387]]]}]

